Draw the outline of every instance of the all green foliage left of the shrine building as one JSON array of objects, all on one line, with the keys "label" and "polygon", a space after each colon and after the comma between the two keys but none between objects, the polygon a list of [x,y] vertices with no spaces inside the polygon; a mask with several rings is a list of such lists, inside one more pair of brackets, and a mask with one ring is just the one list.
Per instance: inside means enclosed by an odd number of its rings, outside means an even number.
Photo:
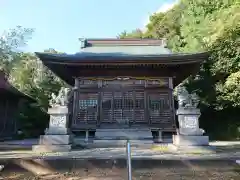
[{"label": "all green foliage left of the shrine building", "polygon": [[[51,93],[57,93],[65,85],[34,54],[19,51],[32,32],[32,29],[17,27],[0,38],[0,67],[17,89],[36,100],[33,104],[23,103],[19,109],[18,124],[24,137],[43,133],[49,121],[46,111]],[[54,49],[46,52],[58,53]]]}]

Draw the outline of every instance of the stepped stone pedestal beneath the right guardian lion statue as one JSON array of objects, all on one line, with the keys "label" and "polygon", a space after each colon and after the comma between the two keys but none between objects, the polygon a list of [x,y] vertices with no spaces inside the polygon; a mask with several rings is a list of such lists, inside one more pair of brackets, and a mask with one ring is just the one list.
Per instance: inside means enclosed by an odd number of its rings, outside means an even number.
[{"label": "stepped stone pedestal beneath the right guardian lion statue", "polygon": [[173,144],[177,150],[188,151],[201,149],[209,145],[209,137],[203,136],[204,130],[199,128],[200,109],[184,107],[177,110],[179,130],[173,136]]}]

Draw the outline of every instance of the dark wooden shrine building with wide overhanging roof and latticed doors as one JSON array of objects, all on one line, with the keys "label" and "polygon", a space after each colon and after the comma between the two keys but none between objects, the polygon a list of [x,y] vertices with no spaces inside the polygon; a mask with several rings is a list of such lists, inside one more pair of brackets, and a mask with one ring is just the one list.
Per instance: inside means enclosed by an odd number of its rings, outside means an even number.
[{"label": "dark wooden shrine building with wide overhanging roof and latticed doors", "polygon": [[175,132],[173,89],[208,53],[175,54],[164,40],[80,39],[73,55],[36,53],[73,87],[69,128]]}]

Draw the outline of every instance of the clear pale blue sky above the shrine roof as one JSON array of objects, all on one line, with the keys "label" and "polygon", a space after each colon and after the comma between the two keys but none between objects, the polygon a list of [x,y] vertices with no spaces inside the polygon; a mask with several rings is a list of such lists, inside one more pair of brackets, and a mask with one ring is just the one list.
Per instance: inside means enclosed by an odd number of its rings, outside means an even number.
[{"label": "clear pale blue sky above the shrine roof", "polygon": [[176,0],[0,0],[0,33],[18,25],[34,28],[25,51],[76,53],[79,38],[114,38],[144,28],[148,17]]}]

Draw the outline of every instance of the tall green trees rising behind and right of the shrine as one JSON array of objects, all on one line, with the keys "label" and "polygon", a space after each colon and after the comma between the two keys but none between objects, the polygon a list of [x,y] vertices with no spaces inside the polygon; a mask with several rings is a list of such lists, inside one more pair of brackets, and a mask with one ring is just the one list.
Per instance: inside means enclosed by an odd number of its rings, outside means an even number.
[{"label": "tall green trees rising behind and right of the shrine", "polygon": [[[131,36],[125,32],[121,38]],[[153,14],[139,37],[166,38],[173,52],[211,52],[198,78],[189,77],[184,83],[201,97],[202,120],[215,114],[218,121],[231,123],[230,132],[239,127],[234,123],[239,117],[232,113],[240,109],[239,0],[180,0],[169,11]]]}]

